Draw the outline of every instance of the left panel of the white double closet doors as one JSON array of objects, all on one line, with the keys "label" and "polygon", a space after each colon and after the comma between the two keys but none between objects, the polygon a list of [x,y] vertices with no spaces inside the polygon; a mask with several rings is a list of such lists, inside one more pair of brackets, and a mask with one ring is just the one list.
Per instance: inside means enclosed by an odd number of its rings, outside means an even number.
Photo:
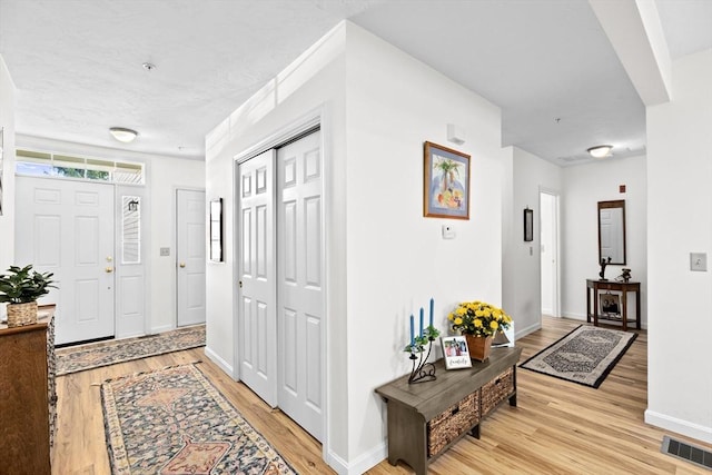
[{"label": "left panel of the white double closet doors", "polygon": [[238,359],[240,379],[277,405],[275,151],[238,166]]}]

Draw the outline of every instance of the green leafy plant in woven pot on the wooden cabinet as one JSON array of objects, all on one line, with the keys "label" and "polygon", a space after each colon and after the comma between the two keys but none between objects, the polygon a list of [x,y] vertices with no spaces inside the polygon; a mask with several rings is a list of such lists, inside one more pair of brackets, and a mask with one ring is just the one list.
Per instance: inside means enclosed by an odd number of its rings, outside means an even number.
[{"label": "green leafy plant in woven pot on the wooden cabinet", "polygon": [[9,327],[37,323],[37,299],[57,288],[52,276],[32,270],[32,265],[10,266],[7,274],[0,274],[0,303],[8,304]]}]

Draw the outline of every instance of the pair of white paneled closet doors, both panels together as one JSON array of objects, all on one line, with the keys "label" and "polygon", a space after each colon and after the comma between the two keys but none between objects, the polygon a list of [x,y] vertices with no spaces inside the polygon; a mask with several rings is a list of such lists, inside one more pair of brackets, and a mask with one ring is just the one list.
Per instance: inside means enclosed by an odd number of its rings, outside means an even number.
[{"label": "pair of white paneled closet doors, both panels together", "polygon": [[320,132],[238,166],[240,379],[322,439]]}]

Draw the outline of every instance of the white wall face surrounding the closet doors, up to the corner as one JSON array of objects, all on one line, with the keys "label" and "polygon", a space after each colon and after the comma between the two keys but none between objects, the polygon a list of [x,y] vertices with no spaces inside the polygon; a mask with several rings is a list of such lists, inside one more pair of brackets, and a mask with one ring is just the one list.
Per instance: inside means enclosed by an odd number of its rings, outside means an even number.
[{"label": "white wall face surrounding the closet doors, up to the corner", "polygon": [[[342,23],[297,58],[277,78],[212,130],[206,139],[207,197],[224,198],[225,263],[207,267],[206,354],[228,374],[238,377],[236,357],[235,189],[234,158],[271,142],[275,132],[297,122],[322,117],[325,175],[327,254],[327,348],[329,382],[327,462],[347,461],[346,385],[346,232],[345,189],[345,58],[346,29]],[[332,390],[332,388],[334,388]]]}]

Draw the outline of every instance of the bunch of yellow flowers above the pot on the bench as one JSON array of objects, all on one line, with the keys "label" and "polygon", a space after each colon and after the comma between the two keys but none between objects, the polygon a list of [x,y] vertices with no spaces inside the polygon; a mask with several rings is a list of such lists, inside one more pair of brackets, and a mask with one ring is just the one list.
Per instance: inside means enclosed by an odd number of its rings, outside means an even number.
[{"label": "bunch of yellow flowers above the pot on the bench", "polygon": [[447,315],[454,331],[461,335],[492,336],[498,330],[510,328],[512,317],[502,308],[484,301],[463,301]]}]

